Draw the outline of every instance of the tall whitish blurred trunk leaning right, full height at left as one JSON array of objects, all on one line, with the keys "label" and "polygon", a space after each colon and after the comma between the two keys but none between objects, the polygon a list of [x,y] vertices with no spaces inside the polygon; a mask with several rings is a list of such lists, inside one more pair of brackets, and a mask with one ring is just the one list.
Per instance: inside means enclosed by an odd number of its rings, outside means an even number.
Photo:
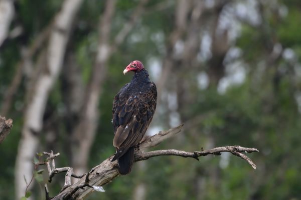
[{"label": "tall whitish blurred trunk leaning right, full height at left", "polygon": [[[26,182],[32,177],[33,157],[39,145],[39,134],[43,127],[43,115],[49,93],[62,67],[66,44],[76,13],[83,0],[65,0],[49,38],[47,50],[42,50],[36,67],[42,70],[34,80],[33,88],[28,88],[29,101],[25,110],[22,137],[16,159],[16,198],[25,195]],[[46,63],[46,65],[45,65]]]}]

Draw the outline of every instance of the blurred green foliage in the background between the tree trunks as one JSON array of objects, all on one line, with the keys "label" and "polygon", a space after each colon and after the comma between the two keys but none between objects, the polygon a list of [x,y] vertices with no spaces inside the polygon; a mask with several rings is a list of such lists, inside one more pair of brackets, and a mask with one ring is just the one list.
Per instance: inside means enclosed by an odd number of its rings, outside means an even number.
[{"label": "blurred green foliage in the background between the tree trunks", "polygon": [[[168,0],[166,0],[168,1]],[[165,56],[154,34],[163,34],[161,45],[166,45],[173,30],[175,2],[169,1],[163,11],[146,11],[122,42],[108,62],[108,74],[103,85],[99,101],[100,117],[97,134],[91,148],[89,167],[99,164],[114,153],[112,146],[111,106],[114,95],[130,76],[122,74],[123,68],[134,59],[151,63],[149,58],[162,60]],[[235,1],[236,2],[236,1]],[[19,0],[17,16],[12,26],[22,24],[24,34],[8,40],[0,48],[0,103],[10,85],[16,66],[21,57],[21,47],[30,45],[37,34],[45,28],[61,7],[61,0]],[[146,4],[146,10],[161,3],[152,0]],[[112,23],[112,35],[120,30],[134,7],[136,0],[118,0]],[[206,156],[199,162],[189,158],[172,156],[155,157],[136,163],[132,172],[119,176],[104,186],[105,192],[94,192],[88,199],[133,199],[137,185],[145,185],[145,199],[301,199],[301,153],[300,94],[301,65],[301,2],[298,0],[279,0],[275,6],[286,9],[287,14],[277,18],[269,12],[269,4],[263,4],[265,28],[241,23],[241,32],[231,45],[241,50],[240,60],[246,67],[246,76],[242,83],[231,85],[224,93],[217,91],[217,85],[201,89],[197,86],[196,72],[206,71],[208,62],[204,61],[197,69],[185,69],[185,77],[172,73],[170,78],[189,82],[191,101],[187,101],[177,110],[182,122],[188,124],[183,133],[157,148],[178,148],[187,151],[220,145],[241,145],[256,147],[259,153],[249,156],[257,164],[253,170],[244,160],[232,155]],[[38,9],[37,9],[38,8]],[[104,10],[104,1],[86,0],[77,16],[69,48],[76,55],[76,62],[81,68],[82,79],[87,84],[94,63],[98,42],[100,14]],[[133,41],[132,37],[138,36]],[[272,65],[266,61],[269,56],[266,42],[281,44],[283,49],[294,52],[294,60],[280,57]],[[163,66],[164,67],[164,66]],[[177,70],[180,66],[174,66]],[[154,77],[152,77],[154,79]],[[24,122],[25,83],[15,95],[13,108],[6,117],[14,120],[14,127],[5,142],[0,145],[0,199],[14,199],[14,166]],[[167,83],[169,84],[169,83]],[[64,88],[60,77],[51,92],[47,109],[51,115],[64,119],[59,109],[63,105]],[[166,107],[162,107],[166,109]],[[157,110],[158,112],[158,110]],[[162,113],[162,112],[161,112]],[[1,114],[1,113],[0,113]],[[155,124],[167,129],[169,111],[158,114]],[[70,164],[68,158],[67,128],[63,121],[56,127],[59,138],[53,149],[60,152],[58,166]],[[41,134],[40,151],[47,151],[44,134]],[[209,146],[208,146],[209,145]],[[54,196],[63,184],[63,175],[58,175],[49,184],[50,195]],[[33,195],[37,199],[43,196],[44,179],[36,183]]]}]

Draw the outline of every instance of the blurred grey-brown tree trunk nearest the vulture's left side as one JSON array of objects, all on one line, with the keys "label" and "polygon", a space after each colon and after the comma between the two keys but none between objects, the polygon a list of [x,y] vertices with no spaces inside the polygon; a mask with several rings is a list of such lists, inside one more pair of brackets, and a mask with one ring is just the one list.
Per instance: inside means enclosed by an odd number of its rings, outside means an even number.
[{"label": "blurred grey-brown tree trunk nearest the vulture's left side", "polygon": [[107,60],[111,55],[109,36],[111,20],[115,11],[116,0],[107,0],[103,15],[100,17],[99,44],[91,79],[86,89],[81,119],[72,135],[72,167],[77,174],[87,170],[87,161],[98,120],[98,102],[102,84],[107,72]]}]

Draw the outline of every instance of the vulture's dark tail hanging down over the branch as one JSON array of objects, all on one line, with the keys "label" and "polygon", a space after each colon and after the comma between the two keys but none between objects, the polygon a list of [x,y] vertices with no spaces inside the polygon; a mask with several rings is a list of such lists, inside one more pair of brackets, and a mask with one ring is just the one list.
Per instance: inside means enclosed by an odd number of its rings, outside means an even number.
[{"label": "vulture's dark tail hanging down over the branch", "polygon": [[130,147],[121,157],[118,159],[119,173],[127,174],[130,172],[134,163],[134,147]]}]

